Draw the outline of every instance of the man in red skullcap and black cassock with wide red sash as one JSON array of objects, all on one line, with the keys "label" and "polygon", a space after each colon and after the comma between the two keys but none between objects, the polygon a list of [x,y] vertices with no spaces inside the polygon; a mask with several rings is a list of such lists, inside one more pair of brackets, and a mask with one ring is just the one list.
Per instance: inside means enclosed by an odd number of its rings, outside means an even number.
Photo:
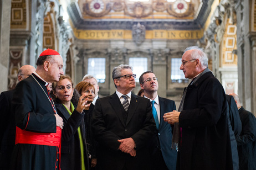
[{"label": "man in red skullcap and black cassock with wide red sash", "polygon": [[17,84],[12,100],[17,127],[11,169],[59,169],[63,119],[55,111],[47,86],[59,81],[62,68],[62,56],[45,50],[37,60],[37,70]]}]

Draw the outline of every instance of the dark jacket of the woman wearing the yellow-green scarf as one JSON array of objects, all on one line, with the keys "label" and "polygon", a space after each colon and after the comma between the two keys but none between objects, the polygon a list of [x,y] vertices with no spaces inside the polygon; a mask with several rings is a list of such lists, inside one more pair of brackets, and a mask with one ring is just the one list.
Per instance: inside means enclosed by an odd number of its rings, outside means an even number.
[{"label": "dark jacket of the woman wearing the yellow-green scarf", "polygon": [[[57,108],[57,113],[62,117],[64,122],[64,127],[62,130],[60,168],[62,170],[81,169],[81,150],[78,135],[78,127],[80,126],[81,135],[84,141],[85,169],[89,169],[89,158],[85,137],[84,112],[79,113],[78,111],[74,110],[70,115],[63,104],[55,103],[55,106]],[[74,107],[76,108],[75,104]]]}]

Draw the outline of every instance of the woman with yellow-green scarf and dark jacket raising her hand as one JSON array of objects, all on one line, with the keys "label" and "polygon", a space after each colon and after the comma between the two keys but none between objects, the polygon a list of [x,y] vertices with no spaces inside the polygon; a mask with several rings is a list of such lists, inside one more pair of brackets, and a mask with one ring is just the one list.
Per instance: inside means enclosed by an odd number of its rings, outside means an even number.
[{"label": "woman with yellow-green scarf and dark jacket raising her hand", "polygon": [[60,76],[58,82],[52,84],[51,95],[57,109],[62,117],[64,126],[62,130],[62,146],[60,168],[89,169],[89,157],[86,146],[84,108],[90,104],[74,91],[73,82],[69,76]]}]

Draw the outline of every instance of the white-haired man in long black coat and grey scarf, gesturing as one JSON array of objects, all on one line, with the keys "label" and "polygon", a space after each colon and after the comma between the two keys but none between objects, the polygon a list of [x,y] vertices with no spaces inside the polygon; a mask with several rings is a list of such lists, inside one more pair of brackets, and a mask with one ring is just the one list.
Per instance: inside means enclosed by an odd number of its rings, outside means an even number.
[{"label": "white-haired man in long black coat and grey scarf, gesturing", "polygon": [[181,61],[180,69],[192,81],[178,111],[164,115],[165,121],[175,124],[173,143],[180,146],[177,169],[233,169],[222,84],[207,68],[208,57],[202,49],[188,47]]}]

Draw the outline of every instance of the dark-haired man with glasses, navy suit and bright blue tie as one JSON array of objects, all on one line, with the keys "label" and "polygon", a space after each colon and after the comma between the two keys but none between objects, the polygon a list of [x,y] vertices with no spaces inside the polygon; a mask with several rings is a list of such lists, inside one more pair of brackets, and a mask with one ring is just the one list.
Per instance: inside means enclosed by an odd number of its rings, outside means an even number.
[{"label": "dark-haired man with glasses, navy suit and bright blue tie", "polygon": [[154,117],[157,128],[149,144],[152,151],[150,152],[151,169],[175,170],[177,151],[171,149],[173,125],[163,121],[163,114],[176,110],[175,102],[157,95],[157,77],[152,71],[142,73],[140,86],[144,89],[144,97],[150,99],[151,104],[153,103],[152,108],[155,107],[157,116]]}]

